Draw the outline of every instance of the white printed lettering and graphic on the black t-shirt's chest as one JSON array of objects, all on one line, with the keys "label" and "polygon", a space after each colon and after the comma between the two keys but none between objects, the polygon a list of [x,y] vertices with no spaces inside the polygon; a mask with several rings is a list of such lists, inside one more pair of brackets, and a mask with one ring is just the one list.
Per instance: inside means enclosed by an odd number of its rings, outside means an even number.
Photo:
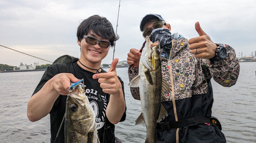
[{"label": "white printed lettering and graphic on the black t-shirt's chest", "polygon": [[94,110],[96,118],[97,130],[101,129],[105,124],[106,119],[106,95],[98,94],[94,89],[86,89],[86,95],[90,101],[90,105]]}]

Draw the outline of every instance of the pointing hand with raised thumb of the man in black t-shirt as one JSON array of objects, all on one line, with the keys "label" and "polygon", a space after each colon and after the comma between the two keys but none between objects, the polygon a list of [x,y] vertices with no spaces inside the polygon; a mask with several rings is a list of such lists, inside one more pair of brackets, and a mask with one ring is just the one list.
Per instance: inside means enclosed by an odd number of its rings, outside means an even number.
[{"label": "pointing hand with raised thumb of the man in black t-shirt", "polygon": [[104,93],[111,95],[122,95],[122,85],[116,74],[116,65],[118,59],[114,59],[108,73],[97,73],[93,75],[93,79],[98,79],[100,88]]}]

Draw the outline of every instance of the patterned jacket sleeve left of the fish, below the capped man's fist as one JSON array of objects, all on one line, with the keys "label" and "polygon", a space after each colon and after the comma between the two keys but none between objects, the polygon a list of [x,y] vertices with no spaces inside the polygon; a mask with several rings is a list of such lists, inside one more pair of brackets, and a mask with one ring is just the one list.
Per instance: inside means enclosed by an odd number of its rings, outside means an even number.
[{"label": "patterned jacket sleeve left of the fish, below the capped man's fist", "polygon": [[[138,68],[133,67],[133,65],[130,65],[128,68],[128,76],[129,81],[131,81],[134,77],[136,77],[139,74]],[[132,88],[130,87],[131,94],[134,99],[140,100],[140,92],[139,88]]]}]

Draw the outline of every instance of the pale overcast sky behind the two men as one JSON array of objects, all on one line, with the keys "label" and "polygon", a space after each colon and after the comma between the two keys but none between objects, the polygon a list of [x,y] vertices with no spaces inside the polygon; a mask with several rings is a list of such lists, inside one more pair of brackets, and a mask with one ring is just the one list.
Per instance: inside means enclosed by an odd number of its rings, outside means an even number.
[{"label": "pale overcast sky behind the two men", "polygon": [[[110,20],[116,31],[119,0],[52,1],[1,0],[0,45],[53,62],[69,54],[79,58],[76,31],[79,23],[92,15]],[[183,0],[137,1],[120,3],[115,58],[126,60],[131,48],[140,49],[143,37],[139,24],[144,15],[157,13],[170,23],[171,33],[187,39],[198,37],[195,23],[215,43],[229,44],[237,57],[254,55],[256,51],[256,1]],[[113,48],[102,64],[111,64]],[[19,66],[49,62],[0,46],[0,64]]]}]

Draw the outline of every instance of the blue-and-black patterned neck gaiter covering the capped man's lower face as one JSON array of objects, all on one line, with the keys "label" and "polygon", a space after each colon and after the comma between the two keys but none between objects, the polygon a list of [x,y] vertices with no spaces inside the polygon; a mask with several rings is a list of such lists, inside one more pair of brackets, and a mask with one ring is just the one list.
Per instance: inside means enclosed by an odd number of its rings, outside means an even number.
[{"label": "blue-and-black patterned neck gaiter covering the capped man's lower face", "polygon": [[153,43],[159,41],[161,56],[166,59],[169,59],[170,49],[172,49],[172,39],[172,34],[165,28],[157,28],[150,35],[150,40]]}]

